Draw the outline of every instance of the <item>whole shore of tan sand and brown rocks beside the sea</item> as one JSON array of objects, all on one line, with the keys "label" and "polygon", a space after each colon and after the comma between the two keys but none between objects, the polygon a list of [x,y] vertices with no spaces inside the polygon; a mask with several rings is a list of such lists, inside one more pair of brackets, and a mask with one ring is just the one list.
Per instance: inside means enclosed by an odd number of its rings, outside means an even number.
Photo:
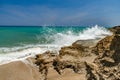
[{"label": "whole shore of tan sand and brown rocks beside the sea", "polygon": [[119,80],[120,26],[98,41],[78,40],[59,54],[44,51],[0,65],[0,80]]}]

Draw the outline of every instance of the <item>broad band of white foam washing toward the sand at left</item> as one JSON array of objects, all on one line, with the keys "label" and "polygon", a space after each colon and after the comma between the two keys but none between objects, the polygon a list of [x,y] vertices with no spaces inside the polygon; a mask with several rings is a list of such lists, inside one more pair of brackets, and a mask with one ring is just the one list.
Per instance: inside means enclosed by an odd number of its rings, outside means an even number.
[{"label": "broad band of white foam washing toward the sand at left", "polygon": [[0,65],[11,61],[24,60],[28,57],[34,57],[36,54],[42,54],[45,51],[59,49],[56,45],[29,45],[17,48],[2,48],[3,54],[0,54]]}]

